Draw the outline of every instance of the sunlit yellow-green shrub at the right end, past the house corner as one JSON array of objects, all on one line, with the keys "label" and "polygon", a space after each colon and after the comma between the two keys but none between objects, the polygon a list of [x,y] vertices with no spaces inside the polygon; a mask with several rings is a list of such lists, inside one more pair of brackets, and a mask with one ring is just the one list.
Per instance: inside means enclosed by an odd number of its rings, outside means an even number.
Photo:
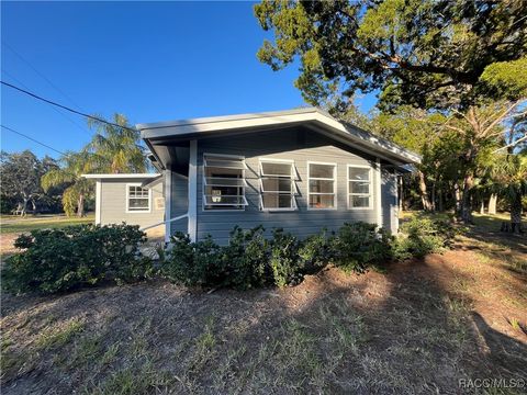
[{"label": "sunlit yellow-green shrub at the right end, past the house corner", "polygon": [[449,248],[456,230],[448,221],[413,217],[401,226],[401,235],[392,244],[395,260],[423,258]]}]

